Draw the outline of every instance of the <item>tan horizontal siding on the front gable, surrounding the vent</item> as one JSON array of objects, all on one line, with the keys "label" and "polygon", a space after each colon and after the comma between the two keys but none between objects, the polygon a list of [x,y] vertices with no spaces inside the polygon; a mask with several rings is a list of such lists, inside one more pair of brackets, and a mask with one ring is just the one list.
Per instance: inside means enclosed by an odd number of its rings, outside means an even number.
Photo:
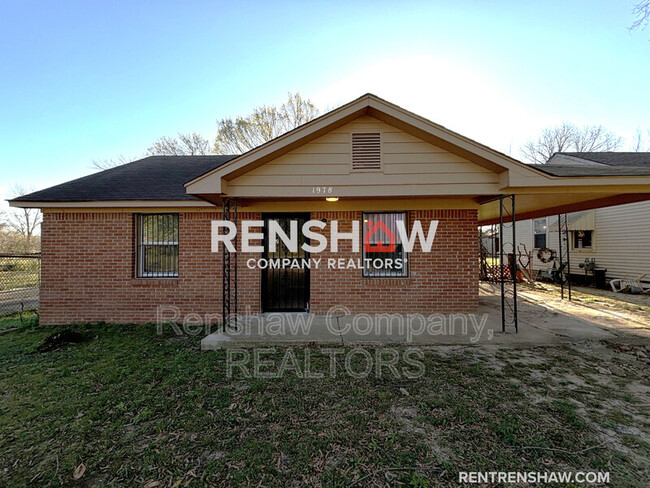
[{"label": "tan horizontal siding on the front gable, surrounding the vent", "polygon": [[[382,169],[352,171],[351,134],[380,132]],[[337,195],[354,195],[365,188],[378,193],[415,195],[485,192],[498,185],[498,175],[467,159],[424,142],[370,116],[334,129],[304,146],[228,182],[230,195],[260,195],[263,188],[291,192],[313,186],[332,186]],[[382,189],[383,187],[383,189]],[[294,194],[297,194],[294,191]]]}]

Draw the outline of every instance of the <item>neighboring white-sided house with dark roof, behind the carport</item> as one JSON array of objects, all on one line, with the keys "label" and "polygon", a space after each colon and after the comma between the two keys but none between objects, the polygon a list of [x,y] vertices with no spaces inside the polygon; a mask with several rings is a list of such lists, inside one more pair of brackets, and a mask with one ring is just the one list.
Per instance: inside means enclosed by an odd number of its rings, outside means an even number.
[{"label": "neighboring white-sided house with dark roof, behind the carport", "polygon": [[[541,166],[557,174],[575,168],[585,175],[644,174],[650,169],[650,153],[556,153]],[[607,269],[608,279],[650,274],[650,201],[572,212],[567,222],[572,275],[584,276],[579,264],[585,259],[595,259],[598,268]],[[504,235],[508,241],[510,234],[504,231]],[[518,221],[516,236],[519,250],[525,246],[534,251],[533,269],[548,269],[549,264],[537,259],[537,250],[559,249],[557,216]]]}]

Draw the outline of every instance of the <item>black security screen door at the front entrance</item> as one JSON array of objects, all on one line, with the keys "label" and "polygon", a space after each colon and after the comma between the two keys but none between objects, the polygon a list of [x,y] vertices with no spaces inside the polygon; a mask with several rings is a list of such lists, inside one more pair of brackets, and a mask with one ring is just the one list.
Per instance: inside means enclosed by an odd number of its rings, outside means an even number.
[{"label": "black security screen door at the front entrance", "polygon": [[[280,240],[276,239],[275,252],[269,251],[269,221],[275,220],[287,235],[290,235],[290,222],[298,222],[298,251],[291,252]],[[309,259],[309,253],[302,249],[305,238],[302,225],[309,220],[309,214],[285,213],[264,215],[264,253],[263,258],[297,259],[299,267],[271,268],[262,270],[262,311],[264,312],[307,312],[309,311],[309,269],[302,266],[303,259]]]}]

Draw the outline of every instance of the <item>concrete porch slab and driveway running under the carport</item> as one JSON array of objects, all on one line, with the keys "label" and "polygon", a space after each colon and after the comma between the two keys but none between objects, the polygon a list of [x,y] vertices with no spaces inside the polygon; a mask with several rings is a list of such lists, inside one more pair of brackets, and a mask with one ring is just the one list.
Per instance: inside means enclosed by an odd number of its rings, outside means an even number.
[{"label": "concrete porch slab and driveway running under the carport", "polygon": [[650,344],[650,318],[562,302],[520,290],[519,333],[501,332],[501,301],[496,286],[481,284],[480,305],[466,314],[351,315],[262,314],[242,318],[238,329],[201,341],[204,350],[263,345],[544,345],[590,340]]}]

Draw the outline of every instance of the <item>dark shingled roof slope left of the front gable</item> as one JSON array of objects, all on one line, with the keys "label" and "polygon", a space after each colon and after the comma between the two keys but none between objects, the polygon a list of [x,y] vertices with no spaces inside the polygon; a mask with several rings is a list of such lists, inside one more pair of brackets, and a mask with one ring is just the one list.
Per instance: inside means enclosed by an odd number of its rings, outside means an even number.
[{"label": "dark shingled roof slope left of the front gable", "polygon": [[183,185],[234,157],[150,156],[24,195],[12,202],[199,200],[188,195]]}]

